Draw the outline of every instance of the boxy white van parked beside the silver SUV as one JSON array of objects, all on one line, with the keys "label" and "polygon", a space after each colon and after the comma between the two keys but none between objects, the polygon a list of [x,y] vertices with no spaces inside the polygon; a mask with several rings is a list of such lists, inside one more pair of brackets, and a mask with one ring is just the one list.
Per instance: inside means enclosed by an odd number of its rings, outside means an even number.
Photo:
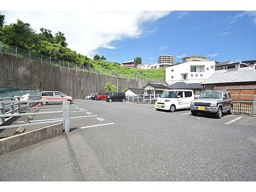
[{"label": "boxy white van parked beside the silver SUV", "polygon": [[189,109],[190,102],[194,99],[193,90],[165,90],[162,96],[157,98],[155,108],[171,112],[174,112],[176,109]]}]

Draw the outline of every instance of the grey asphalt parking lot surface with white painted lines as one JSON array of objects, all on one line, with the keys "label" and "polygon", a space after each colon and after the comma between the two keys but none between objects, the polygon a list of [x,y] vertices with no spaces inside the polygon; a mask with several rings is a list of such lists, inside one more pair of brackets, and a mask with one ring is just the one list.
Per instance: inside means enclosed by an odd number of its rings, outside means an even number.
[{"label": "grey asphalt parking lot surface with white painted lines", "polygon": [[0,155],[0,180],[256,180],[256,117],[93,100],[70,107],[81,111],[70,113],[73,131]]}]

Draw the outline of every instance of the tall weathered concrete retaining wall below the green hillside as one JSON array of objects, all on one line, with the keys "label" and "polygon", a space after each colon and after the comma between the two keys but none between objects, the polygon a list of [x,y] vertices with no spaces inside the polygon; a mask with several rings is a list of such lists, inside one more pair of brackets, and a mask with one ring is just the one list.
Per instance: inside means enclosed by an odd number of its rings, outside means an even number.
[{"label": "tall weathered concrete retaining wall below the green hillside", "polygon": [[117,80],[119,90],[142,88],[148,83],[142,80],[121,79],[76,71],[13,55],[0,54],[0,87],[56,90],[76,99],[88,93],[102,92],[106,83],[116,85]]}]

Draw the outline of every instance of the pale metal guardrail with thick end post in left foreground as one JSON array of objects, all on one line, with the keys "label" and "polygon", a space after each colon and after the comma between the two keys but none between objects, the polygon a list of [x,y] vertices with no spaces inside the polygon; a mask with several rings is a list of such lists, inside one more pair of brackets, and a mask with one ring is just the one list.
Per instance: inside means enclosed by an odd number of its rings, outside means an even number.
[{"label": "pale metal guardrail with thick end post in left foreground", "polygon": [[[2,98],[3,99],[3,98]],[[32,100],[32,101],[3,101],[0,100],[0,105],[5,105],[5,103],[23,103],[23,102],[42,102],[42,100]],[[15,128],[15,127],[26,127],[26,126],[32,126],[32,125],[41,125],[41,124],[49,124],[49,123],[57,123],[57,122],[63,122],[63,127],[65,128],[65,133],[70,132],[70,102],[67,100],[47,100],[47,102],[62,102],[62,111],[50,111],[50,112],[34,112],[34,113],[12,113],[12,114],[0,114],[0,118],[6,118],[6,117],[12,117],[12,116],[28,116],[28,115],[48,115],[53,113],[62,113],[62,119],[55,120],[55,121],[45,121],[45,122],[36,122],[36,123],[29,123],[29,124],[19,124],[19,125],[7,125],[7,126],[0,126],[0,129],[6,129],[6,128]],[[20,112],[20,111],[19,111]]]}]

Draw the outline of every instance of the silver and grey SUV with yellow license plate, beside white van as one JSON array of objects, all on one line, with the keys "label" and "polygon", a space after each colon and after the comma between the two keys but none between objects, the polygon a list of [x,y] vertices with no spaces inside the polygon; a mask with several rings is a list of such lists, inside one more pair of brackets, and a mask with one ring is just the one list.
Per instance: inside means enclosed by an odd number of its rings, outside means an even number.
[{"label": "silver and grey SUV with yellow license plate, beside white van", "polygon": [[212,113],[218,119],[223,112],[233,113],[233,99],[229,90],[205,90],[190,104],[192,115]]}]

